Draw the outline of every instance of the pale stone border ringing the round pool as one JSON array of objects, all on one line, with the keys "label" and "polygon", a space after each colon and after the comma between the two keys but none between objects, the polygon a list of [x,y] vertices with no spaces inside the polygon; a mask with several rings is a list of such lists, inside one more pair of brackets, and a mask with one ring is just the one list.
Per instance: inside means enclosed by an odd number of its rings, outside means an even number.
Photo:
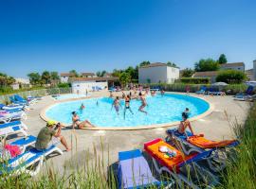
[{"label": "pale stone border ringing the round pool", "polygon": [[[174,94],[174,93],[171,93],[171,92],[167,92],[167,94]],[[181,94],[181,93],[176,93],[176,94]],[[182,94],[184,95],[184,94]],[[104,96],[102,96],[104,97]],[[211,112],[213,112],[214,110],[214,106],[212,103],[210,103],[208,100],[202,98],[202,97],[199,97],[199,96],[194,96],[192,95],[192,97],[196,97],[196,98],[199,98],[199,99],[202,99],[204,101],[206,101],[208,104],[209,104],[209,109],[207,112],[203,112],[197,116],[194,116],[192,118],[189,118],[189,120],[192,122],[192,121],[195,121],[195,120],[198,120],[198,119],[201,119],[207,115],[209,115]],[[46,108],[44,108],[41,112],[40,112],[40,117],[44,120],[44,121],[48,121],[49,118],[46,116],[46,110],[49,109],[50,107],[53,107],[57,104],[60,104],[62,102],[70,102],[70,101],[79,101],[79,100],[82,100],[82,99],[89,99],[89,98],[94,98],[93,96],[88,96],[88,97],[82,97],[82,98],[74,98],[74,99],[64,99],[64,100],[59,100],[58,102],[55,102],[51,105],[48,105],[46,106]],[[96,128],[83,128],[83,129],[89,129],[89,130],[138,130],[138,129],[157,129],[157,128],[167,128],[167,127],[173,127],[173,126],[176,126],[180,123],[180,121],[175,121],[175,122],[172,122],[172,123],[163,123],[163,124],[154,124],[154,125],[146,125],[146,126],[137,126],[137,127],[96,127]],[[64,127],[68,127],[70,126],[69,124],[66,124],[64,123]]]}]

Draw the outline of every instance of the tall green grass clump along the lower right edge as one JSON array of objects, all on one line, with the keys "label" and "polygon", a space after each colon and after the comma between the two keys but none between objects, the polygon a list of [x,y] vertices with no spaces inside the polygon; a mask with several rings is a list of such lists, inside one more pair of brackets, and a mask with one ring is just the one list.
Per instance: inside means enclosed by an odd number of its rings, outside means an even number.
[{"label": "tall green grass clump along the lower right edge", "polygon": [[237,159],[229,161],[219,188],[256,188],[256,103],[251,106],[245,125],[236,124],[234,131],[241,144],[237,147]]}]

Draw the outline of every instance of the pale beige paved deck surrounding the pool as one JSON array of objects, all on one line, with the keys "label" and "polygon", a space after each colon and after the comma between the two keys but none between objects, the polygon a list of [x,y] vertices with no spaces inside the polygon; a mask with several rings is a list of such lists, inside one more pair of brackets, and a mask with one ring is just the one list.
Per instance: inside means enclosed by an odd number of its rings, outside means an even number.
[{"label": "pale beige paved deck surrounding the pool", "polygon": [[[108,95],[107,92],[91,93],[92,97]],[[191,95],[206,99],[213,107],[212,112],[208,115],[192,121],[192,128],[195,133],[204,133],[209,139],[222,140],[233,138],[233,125],[230,123],[237,121],[239,124],[243,124],[247,117],[248,102],[235,101],[232,96]],[[51,96],[45,96],[38,103],[31,105],[31,110],[27,112],[27,120],[24,121],[30,134],[37,136],[39,130],[46,126],[46,122],[40,117],[40,113],[46,106],[55,102]],[[172,128],[175,127],[173,126]],[[104,157],[108,157],[103,158],[105,163],[116,163],[119,151],[134,148],[143,149],[145,142],[155,138],[164,138],[166,136],[166,129],[73,130],[66,128],[62,130],[62,135],[64,135],[69,145],[72,143],[72,150],[64,152],[62,156],[50,158],[46,162],[53,163],[60,171],[63,171],[64,167],[68,171],[72,169],[70,163],[83,165],[85,158],[89,162],[94,162],[95,154],[93,149],[95,148],[98,154],[101,154],[103,151]],[[103,149],[101,146],[103,146]],[[60,145],[60,147],[64,149],[63,146]]]}]

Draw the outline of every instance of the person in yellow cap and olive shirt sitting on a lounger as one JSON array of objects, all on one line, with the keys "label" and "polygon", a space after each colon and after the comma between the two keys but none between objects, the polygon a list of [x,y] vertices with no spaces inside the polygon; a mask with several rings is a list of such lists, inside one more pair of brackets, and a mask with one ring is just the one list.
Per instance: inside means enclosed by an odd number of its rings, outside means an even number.
[{"label": "person in yellow cap and olive shirt sitting on a lounger", "polygon": [[62,127],[63,125],[61,123],[57,124],[55,121],[48,121],[46,127],[41,129],[37,136],[35,144],[36,149],[43,151],[61,142],[65,150],[69,151],[71,148],[67,146],[64,136],[61,135]]}]

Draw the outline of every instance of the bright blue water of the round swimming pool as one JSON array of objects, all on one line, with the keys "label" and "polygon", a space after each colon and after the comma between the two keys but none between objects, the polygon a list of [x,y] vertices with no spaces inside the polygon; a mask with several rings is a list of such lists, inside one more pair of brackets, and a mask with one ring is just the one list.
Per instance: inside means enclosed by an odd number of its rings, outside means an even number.
[{"label": "bright blue water of the round swimming pool", "polygon": [[[97,101],[99,105],[97,105]],[[85,109],[80,111],[82,103]],[[141,105],[139,100],[131,100],[131,110],[134,114],[126,111],[124,119],[124,101],[121,100],[122,107],[119,115],[114,108],[111,109],[112,103],[113,99],[107,97],[64,102],[49,108],[46,111],[46,116],[62,123],[71,124],[71,112],[76,111],[81,120],[87,119],[98,127],[136,127],[180,121],[181,113],[185,108],[190,109],[190,117],[206,112],[210,108],[208,102],[189,95],[156,95],[147,97],[148,106],[144,109],[148,112],[147,115],[138,112]]]}]

